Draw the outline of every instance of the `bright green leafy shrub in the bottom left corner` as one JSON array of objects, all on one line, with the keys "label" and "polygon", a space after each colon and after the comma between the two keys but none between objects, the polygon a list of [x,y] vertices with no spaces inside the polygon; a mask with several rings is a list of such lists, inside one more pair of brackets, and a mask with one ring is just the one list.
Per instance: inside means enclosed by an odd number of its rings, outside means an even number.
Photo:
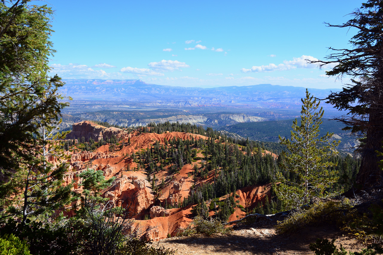
[{"label": "bright green leafy shrub in the bottom left corner", "polygon": [[0,238],[0,255],[30,255],[29,245],[13,234]]}]

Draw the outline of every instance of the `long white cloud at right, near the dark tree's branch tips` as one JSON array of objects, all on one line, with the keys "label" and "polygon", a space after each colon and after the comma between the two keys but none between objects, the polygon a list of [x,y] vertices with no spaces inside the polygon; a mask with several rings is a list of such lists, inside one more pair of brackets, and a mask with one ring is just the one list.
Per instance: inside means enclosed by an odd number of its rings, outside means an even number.
[{"label": "long white cloud at right, near the dark tree's branch tips", "polygon": [[301,57],[294,57],[293,60],[285,60],[283,61],[283,64],[268,64],[268,65],[261,65],[261,66],[253,66],[251,69],[242,68],[242,73],[248,73],[248,72],[273,72],[273,71],[285,71],[290,69],[296,69],[296,68],[315,68],[317,67],[317,64],[310,64],[307,62],[307,60],[316,61],[315,57],[312,56],[306,56],[302,55]]}]

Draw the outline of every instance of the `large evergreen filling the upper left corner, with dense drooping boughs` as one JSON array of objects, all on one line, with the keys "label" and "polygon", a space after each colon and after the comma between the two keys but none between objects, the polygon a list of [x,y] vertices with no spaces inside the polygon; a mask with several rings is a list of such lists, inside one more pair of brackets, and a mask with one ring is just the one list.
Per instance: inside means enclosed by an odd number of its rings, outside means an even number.
[{"label": "large evergreen filling the upper left corner, with dense drooping boughs", "polygon": [[53,11],[28,0],[0,2],[0,173],[33,160],[41,128],[58,121],[61,78],[49,77],[55,52],[49,37]]}]

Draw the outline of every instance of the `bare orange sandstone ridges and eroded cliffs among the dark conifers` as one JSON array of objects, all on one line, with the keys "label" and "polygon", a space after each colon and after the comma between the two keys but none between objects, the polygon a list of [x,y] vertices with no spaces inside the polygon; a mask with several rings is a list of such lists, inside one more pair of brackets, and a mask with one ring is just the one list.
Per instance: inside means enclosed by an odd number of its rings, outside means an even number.
[{"label": "bare orange sandstone ridges and eroded cliffs among the dark conifers", "polygon": [[[208,137],[199,134],[183,133],[183,132],[166,132],[163,134],[156,133],[143,133],[138,134],[135,132],[127,132],[115,127],[103,127],[90,121],[82,121],[73,125],[73,130],[67,135],[67,139],[77,139],[78,137],[85,137],[88,141],[91,137],[94,141],[99,141],[106,137],[111,137],[114,134],[119,143],[123,143],[122,148],[115,146],[115,151],[110,151],[110,144],[103,145],[93,152],[78,151],[76,147],[71,151],[65,151],[65,154],[70,156],[67,160],[69,163],[69,172],[64,177],[64,184],[69,185],[74,182],[74,191],[80,193],[82,191],[79,186],[80,178],[77,177],[79,173],[87,168],[103,171],[106,179],[116,177],[115,181],[110,188],[103,191],[103,196],[110,200],[115,201],[118,206],[130,206],[132,214],[134,214],[134,227],[141,230],[149,229],[144,237],[147,240],[160,240],[167,237],[168,234],[175,236],[180,228],[185,228],[192,221],[192,206],[186,208],[173,208],[165,209],[160,207],[161,203],[165,201],[169,205],[179,204],[185,199],[191,191],[193,184],[195,186],[202,185],[206,182],[212,182],[212,178],[207,180],[197,180],[194,183],[191,174],[193,172],[194,164],[200,164],[201,160],[197,160],[192,164],[185,164],[179,173],[169,174],[165,170],[156,172],[156,181],[159,184],[164,178],[165,186],[160,189],[159,195],[155,196],[152,191],[151,184],[146,180],[146,173],[141,170],[133,170],[137,168],[137,163],[133,162],[131,158],[132,152],[147,149],[148,146],[159,142],[164,144],[164,139],[170,141],[175,137],[183,140],[191,139],[205,139]],[[130,137],[131,143],[128,144]],[[218,142],[218,140],[216,140]],[[265,151],[265,153],[270,153]],[[198,153],[198,157],[202,154]],[[273,154],[273,157],[277,155]],[[131,169],[128,171],[127,169]],[[271,184],[248,186],[236,191],[239,195],[239,204],[242,206],[253,209],[257,203],[263,201],[266,196],[270,196]],[[226,195],[228,196],[228,195]],[[210,201],[207,201],[208,204]],[[213,215],[214,212],[210,212]],[[149,220],[144,220],[148,217]],[[240,208],[236,208],[234,213],[229,217],[229,221],[233,221],[245,216]]]}]

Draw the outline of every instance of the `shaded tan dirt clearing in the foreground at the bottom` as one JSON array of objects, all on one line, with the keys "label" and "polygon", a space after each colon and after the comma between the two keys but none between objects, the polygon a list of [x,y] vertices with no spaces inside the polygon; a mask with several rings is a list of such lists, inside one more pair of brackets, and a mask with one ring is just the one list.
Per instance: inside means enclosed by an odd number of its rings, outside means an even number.
[{"label": "shaded tan dirt clearing in the foreground at the bottom", "polygon": [[335,227],[310,228],[295,234],[275,234],[273,226],[237,226],[229,235],[196,237],[172,237],[154,242],[152,246],[164,246],[177,250],[176,255],[245,255],[245,254],[314,254],[309,244],[318,238],[336,239],[347,251],[359,251],[363,247],[354,238]]}]

